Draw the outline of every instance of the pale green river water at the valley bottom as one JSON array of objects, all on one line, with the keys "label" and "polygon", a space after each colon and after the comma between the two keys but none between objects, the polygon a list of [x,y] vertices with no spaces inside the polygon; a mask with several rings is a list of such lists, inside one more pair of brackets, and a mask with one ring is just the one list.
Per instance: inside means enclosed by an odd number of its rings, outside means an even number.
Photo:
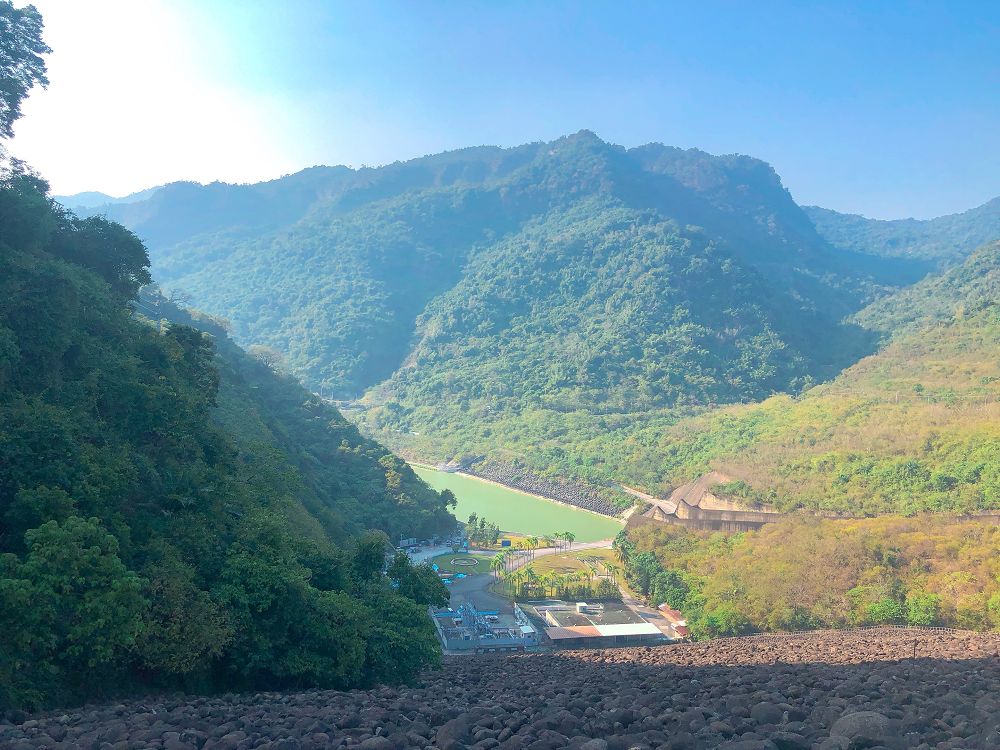
[{"label": "pale green river water at the valley bottom", "polygon": [[613,518],[543,500],[474,477],[422,466],[414,466],[413,470],[434,489],[448,489],[455,493],[458,507],[454,512],[461,521],[475,513],[493,521],[504,531],[535,536],[571,531],[578,542],[611,539],[622,529],[622,524]]}]

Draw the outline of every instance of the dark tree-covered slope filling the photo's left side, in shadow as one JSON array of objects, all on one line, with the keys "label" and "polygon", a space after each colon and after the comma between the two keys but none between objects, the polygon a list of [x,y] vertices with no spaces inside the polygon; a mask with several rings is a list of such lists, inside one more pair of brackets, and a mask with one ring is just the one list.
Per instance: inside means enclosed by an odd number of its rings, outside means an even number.
[{"label": "dark tree-covered slope filling the photo's left side, in shadow", "polygon": [[0,227],[0,707],[433,663],[444,587],[348,534],[443,528],[446,498],[218,331],[133,314],[124,228],[18,171]]}]

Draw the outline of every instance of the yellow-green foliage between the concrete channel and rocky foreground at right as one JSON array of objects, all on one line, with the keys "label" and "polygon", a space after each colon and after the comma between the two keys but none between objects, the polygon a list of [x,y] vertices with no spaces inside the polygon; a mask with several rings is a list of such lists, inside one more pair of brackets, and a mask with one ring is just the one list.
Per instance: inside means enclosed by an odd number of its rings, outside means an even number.
[{"label": "yellow-green foliage between the concrete channel and rocky foreground at right", "polygon": [[[724,536],[631,528],[630,559],[690,586],[696,634],[897,623],[1000,627],[1000,526],[943,516],[791,518]],[[635,580],[635,565],[628,566]],[[651,598],[657,598],[656,572]],[[660,597],[662,598],[662,597]],[[653,602],[659,604],[660,602]]]}]

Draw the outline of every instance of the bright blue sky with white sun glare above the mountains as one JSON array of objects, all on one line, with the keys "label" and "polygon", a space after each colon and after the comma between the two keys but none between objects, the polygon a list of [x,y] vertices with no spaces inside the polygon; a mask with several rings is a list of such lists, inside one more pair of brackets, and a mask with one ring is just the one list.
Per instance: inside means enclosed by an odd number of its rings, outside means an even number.
[{"label": "bright blue sky with white sun glare above the mountains", "polygon": [[589,129],[749,154],[799,203],[874,218],[1000,195],[991,0],[34,4],[50,86],[10,147],[57,194]]}]

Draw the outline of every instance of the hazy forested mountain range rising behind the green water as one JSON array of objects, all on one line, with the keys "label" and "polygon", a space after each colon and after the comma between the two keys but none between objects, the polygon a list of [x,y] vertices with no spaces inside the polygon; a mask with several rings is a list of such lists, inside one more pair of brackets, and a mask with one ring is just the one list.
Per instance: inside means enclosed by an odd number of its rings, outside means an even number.
[{"label": "hazy forested mountain range rising behind the green water", "polygon": [[[91,211],[147,243],[164,288],[356,402],[352,418],[404,455],[657,491],[735,455],[704,420],[857,377],[900,351],[888,342],[907,316],[947,326],[992,263],[970,254],[1000,237],[998,200],[870,220],[798,206],[751,157],[625,149],[589,131],[257,185],[176,183]],[[771,475],[733,475],[781,494]],[[779,504],[857,507],[805,492]],[[945,494],[928,503],[994,502]]]}]

